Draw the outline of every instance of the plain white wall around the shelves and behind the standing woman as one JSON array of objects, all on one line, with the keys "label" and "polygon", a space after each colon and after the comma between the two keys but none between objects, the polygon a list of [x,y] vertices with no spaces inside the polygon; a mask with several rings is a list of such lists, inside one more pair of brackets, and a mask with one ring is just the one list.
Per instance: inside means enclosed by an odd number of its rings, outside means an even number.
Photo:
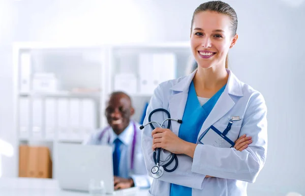
[{"label": "plain white wall around the shelves and behind the standing woman", "polygon": [[[17,22],[1,39],[0,138],[15,143],[12,132],[12,64],[8,44],[15,41],[186,41],[193,10],[203,1],[34,1],[10,3]],[[289,4],[290,2],[290,4]],[[230,67],[265,97],[268,155],[249,189],[305,194],[302,149],[305,100],[305,3],[302,0],[228,1],[238,15],[237,45]],[[292,3],[295,3],[292,4]],[[116,7],[115,7],[116,6]],[[107,17],[105,17],[107,16]],[[2,28],[3,30],[3,28]],[[7,30],[8,31],[8,30]],[[5,63],[3,63],[5,62]],[[13,158],[4,157],[3,175],[16,176]]]}]

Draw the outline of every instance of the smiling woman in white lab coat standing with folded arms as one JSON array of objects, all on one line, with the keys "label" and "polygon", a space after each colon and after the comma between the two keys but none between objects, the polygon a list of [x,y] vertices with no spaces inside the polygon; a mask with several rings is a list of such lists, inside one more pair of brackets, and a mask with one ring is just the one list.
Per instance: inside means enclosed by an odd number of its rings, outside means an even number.
[{"label": "smiling woman in white lab coat standing with folded arms", "polygon": [[[228,51],[238,38],[236,29],[237,15],[226,3],[207,2],[194,11],[191,48],[198,68],[161,83],[147,108],[144,124],[157,108],[168,110],[172,119],[182,119],[181,124],[171,121],[171,130],[144,128],[142,150],[149,175],[156,165],[156,148],[162,149],[160,160],[169,153],[178,159],[175,171],[154,179],[150,195],[247,195],[247,183],[261,171],[267,152],[264,98],[226,69]],[[162,123],[166,118],[158,111],[151,121]],[[217,146],[213,142],[222,139],[218,133],[231,142],[241,135],[251,136],[252,144],[242,151]]]}]

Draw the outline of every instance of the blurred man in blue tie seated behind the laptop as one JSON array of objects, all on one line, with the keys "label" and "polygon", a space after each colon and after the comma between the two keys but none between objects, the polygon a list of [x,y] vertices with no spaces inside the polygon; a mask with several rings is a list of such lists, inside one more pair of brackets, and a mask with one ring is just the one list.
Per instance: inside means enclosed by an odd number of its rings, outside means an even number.
[{"label": "blurred man in blue tie seated behind the laptop", "polygon": [[114,189],[150,187],[141,149],[140,125],[130,120],[133,114],[130,97],[123,92],[112,93],[105,110],[109,126],[84,143],[113,145]]}]

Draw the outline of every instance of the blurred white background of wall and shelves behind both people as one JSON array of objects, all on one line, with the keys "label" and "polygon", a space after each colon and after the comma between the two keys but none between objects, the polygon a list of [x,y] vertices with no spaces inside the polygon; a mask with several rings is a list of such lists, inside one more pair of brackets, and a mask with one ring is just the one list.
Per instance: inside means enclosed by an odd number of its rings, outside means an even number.
[{"label": "blurred white background of wall and shelves behind both people", "polygon": [[[0,0],[0,177],[20,175],[20,145],[48,147],[53,158],[56,144],[106,126],[113,90],[132,95],[141,121],[156,84],[189,72],[191,19],[203,2]],[[305,3],[226,2],[239,35],[229,68],[268,108],[266,164],[249,190],[305,194]],[[171,66],[148,70],[150,58]]]}]

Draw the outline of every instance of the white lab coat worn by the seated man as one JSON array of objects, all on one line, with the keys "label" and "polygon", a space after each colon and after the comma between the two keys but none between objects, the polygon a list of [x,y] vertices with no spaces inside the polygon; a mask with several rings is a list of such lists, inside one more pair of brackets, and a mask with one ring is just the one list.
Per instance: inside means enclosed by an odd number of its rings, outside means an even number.
[{"label": "white lab coat worn by the seated man", "polygon": [[[136,145],[135,145],[135,155],[134,155],[134,167],[131,169],[131,154],[132,154],[132,140],[134,134],[133,123],[136,126]],[[130,122],[130,125],[124,130],[124,137],[120,138],[121,141],[128,143],[128,150],[127,150],[127,161],[120,161],[120,168],[123,168],[123,165],[128,164],[128,173],[129,176],[133,179],[135,186],[139,188],[149,188],[152,178],[147,175],[144,158],[141,149],[141,134],[142,130],[140,130],[140,125],[136,122]],[[105,131],[106,130],[106,131]],[[101,137],[102,132],[103,136]],[[120,135],[119,135],[120,136]],[[112,128],[105,128],[102,130],[97,131],[96,133],[92,134],[83,144],[84,145],[113,145],[113,141],[116,138],[116,134],[113,132]],[[109,142],[109,143],[108,143]],[[101,155],[102,156],[102,155]],[[125,157],[125,156],[124,156]]]}]

